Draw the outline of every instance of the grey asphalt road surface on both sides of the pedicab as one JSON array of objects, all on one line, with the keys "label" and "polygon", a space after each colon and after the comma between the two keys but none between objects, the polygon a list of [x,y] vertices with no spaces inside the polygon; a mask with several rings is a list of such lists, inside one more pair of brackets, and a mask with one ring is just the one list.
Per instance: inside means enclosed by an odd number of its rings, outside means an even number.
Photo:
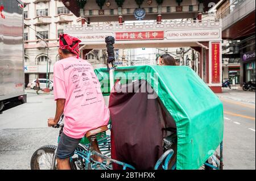
[{"label": "grey asphalt road surface on both sides of the pedicab", "polygon": [[[224,169],[255,169],[255,103],[218,96],[225,111]],[[250,96],[255,100],[255,92]],[[29,93],[27,101],[0,115],[0,169],[30,169],[36,149],[56,144],[59,130],[47,128],[55,115],[53,95]]]}]

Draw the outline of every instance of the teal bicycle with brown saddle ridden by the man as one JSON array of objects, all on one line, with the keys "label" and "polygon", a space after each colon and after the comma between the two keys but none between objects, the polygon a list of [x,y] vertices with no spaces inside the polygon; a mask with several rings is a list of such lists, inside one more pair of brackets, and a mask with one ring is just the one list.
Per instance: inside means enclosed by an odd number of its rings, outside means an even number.
[{"label": "teal bicycle with brown saddle ridden by the man", "polygon": [[[57,123],[57,125],[53,127],[60,128],[59,137],[57,139],[58,143],[64,128],[63,118],[64,115],[60,117],[59,123]],[[110,158],[110,136],[106,135],[106,131],[108,129],[109,128],[105,126],[86,133],[85,137],[82,138],[80,144],[77,146],[75,154],[73,155],[73,157],[70,158],[70,165],[72,170],[112,170],[112,163],[121,165],[123,167],[123,170],[127,168],[135,170],[133,166],[127,163],[116,161]],[[86,139],[88,137],[91,137],[90,142],[88,142],[88,140]],[[94,151],[91,147],[92,141],[94,141],[95,139],[97,139],[98,141],[98,146],[101,153]],[[42,146],[41,148],[36,150],[31,157],[31,170],[56,170],[56,151],[57,146],[55,145]],[[93,159],[93,155],[98,155],[104,161],[102,163],[95,161]]]}]

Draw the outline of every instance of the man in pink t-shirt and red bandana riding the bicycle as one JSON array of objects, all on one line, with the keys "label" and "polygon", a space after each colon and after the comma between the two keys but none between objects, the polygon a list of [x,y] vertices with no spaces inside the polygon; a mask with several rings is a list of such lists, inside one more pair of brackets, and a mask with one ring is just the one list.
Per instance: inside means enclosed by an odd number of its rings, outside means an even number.
[{"label": "man in pink t-shirt and red bandana riding the bicycle", "polygon": [[[69,157],[85,133],[108,125],[109,109],[106,107],[101,85],[92,65],[79,58],[81,41],[69,35],[60,35],[59,55],[53,71],[55,118],[48,119],[48,126],[56,125],[62,113],[65,125],[57,146],[58,169],[71,169]],[[100,152],[97,141],[92,142],[94,150]],[[100,157],[94,157],[102,162]]]}]

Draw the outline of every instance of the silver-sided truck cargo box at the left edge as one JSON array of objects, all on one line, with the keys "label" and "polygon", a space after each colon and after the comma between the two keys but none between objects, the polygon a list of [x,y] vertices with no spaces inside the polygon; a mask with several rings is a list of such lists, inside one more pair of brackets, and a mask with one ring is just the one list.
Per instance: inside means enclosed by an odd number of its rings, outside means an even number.
[{"label": "silver-sided truck cargo box at the left edge", "polygon": [[23,27],[23,2],[0,0],[0,113],[27,102]]}]

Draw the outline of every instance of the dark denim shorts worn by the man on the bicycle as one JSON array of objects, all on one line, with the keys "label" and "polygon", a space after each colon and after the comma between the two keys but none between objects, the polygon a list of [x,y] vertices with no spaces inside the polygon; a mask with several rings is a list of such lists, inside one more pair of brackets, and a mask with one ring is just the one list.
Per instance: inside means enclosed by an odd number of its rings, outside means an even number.
[{"label": "dark denim shorts worn by the man on the bicycle", "polygon": [[56,151],[56,157],[59,159],[72,157],[81,139],[82,138],[80,139],[71,138],[65,135],[64,133],[61,133],[60,142],[58,144],[57,151]]}]

